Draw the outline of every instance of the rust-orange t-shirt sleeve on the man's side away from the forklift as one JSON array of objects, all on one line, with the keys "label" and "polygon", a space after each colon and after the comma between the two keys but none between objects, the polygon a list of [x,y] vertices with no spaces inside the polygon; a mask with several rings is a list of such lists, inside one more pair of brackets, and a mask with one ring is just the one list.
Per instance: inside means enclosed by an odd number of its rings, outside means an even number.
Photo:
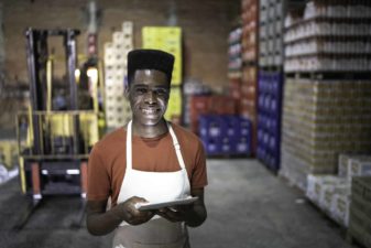
[{"label": "rust-orange t-shirt sleeve on the man's side away from the forklift", "polygon": [[206,155],[203,143],[198,140],[196,145],[195,166],[192,173],[192,188],[201,188],[207,185]]}]

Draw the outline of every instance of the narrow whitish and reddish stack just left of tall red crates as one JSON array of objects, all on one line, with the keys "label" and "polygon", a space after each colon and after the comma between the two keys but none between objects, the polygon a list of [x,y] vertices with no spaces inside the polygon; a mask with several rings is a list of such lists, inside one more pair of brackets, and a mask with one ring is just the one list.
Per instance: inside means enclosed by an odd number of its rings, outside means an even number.
[{"label": "narrow whitish and reddish stack just left of tall red crates", "polygon": [[242,29],[236,28],[228,36],[228,78],[230,83],[230,96],[234,99],[241,98],[241,69],[242,69]]}]

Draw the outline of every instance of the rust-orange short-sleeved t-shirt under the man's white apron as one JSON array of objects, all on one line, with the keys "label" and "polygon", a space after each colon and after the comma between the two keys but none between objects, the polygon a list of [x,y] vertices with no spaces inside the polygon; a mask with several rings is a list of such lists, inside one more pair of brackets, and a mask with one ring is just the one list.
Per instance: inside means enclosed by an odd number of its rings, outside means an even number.
[{"label": "rust-orange short-sleeved t-shirt under the man's white apron", "polygon": [[[189,177],[192,188],[207,185],[206,157],[203,143],[190,131],[172,123]],[[89,201],[107,200],[117,204],[127,168],[127,131],[120,128],[107,134],[91,150],[88,164]],[[156,138],[132,138],[132,166],[140,171],[179,171],[170,132]]]}]

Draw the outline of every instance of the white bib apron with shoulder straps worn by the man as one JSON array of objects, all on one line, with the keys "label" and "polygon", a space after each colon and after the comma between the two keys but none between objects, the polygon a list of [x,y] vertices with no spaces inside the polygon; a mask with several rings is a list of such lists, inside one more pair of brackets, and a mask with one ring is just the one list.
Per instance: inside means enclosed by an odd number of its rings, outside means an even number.
[{"label": "white bib apron with shoulder straps worn by the man", "polygon": [[[181,153],[181,147],[171,125],[171,133],[179,171],[146,172],[132,169],[132,121],[127,131],[127,169],[122,180],[118,204],[132,196],[149,202],[163,202],[190,195],[189,180]],[[166,154],[164,154],[166,155]],[[172,223],[159,215],[148,223],[131,226],[122,222],[116,229],[113,248],[188,248],[188,234],[184,223]]]}]

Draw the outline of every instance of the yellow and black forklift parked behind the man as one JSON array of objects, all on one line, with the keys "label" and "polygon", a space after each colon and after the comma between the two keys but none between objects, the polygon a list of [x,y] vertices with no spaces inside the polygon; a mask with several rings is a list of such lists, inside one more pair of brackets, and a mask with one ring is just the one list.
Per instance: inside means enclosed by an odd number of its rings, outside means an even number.
[{"label": "yellow and black forklift parked behind the man", "polygon": [[[99,68],[89,60],[77,68],[78,30],[39,30],[25,32],[30,79],[30,109],[18,114],[19,179],[21,191],[31,196],[15,225],[21,229],[48,195],[79,195],[75,226],[80,226],[87,192],[87,161],[99,140]],[[48,39],[63,40],[65,77],[54,84]],[[83,99],[87,99],[80,103]]]}]

